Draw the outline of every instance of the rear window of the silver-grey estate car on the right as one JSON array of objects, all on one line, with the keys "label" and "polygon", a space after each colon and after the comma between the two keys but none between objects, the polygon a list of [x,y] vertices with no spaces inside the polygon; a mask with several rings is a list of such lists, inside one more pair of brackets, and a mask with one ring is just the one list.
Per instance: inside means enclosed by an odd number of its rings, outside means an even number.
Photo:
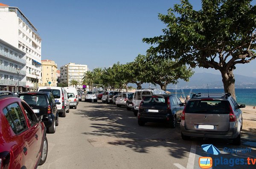
[{"label": "rear window of the silver-grey estate car on the right", "polygon": [[229,114],[230,105],[227,100],[189,100],[186,113],[195,114]]}]

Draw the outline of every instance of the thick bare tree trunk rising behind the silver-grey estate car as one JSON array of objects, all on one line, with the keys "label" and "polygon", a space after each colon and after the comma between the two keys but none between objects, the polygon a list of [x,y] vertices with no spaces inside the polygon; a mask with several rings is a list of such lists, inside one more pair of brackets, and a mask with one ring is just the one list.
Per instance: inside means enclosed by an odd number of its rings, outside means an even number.
[{"label": "thick bare tree trunk rising behind the silver-grey estate car", "polygon": [[236,100],[235,77],[233,70],[221,71],[221,76],[225,93],[230,93],[231,96]]}]

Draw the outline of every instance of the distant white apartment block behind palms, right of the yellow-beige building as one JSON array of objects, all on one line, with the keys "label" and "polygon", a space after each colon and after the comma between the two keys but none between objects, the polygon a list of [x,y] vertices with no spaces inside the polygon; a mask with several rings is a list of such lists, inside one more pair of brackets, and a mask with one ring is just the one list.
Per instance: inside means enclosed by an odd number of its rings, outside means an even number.
[{"label": "distant white apartment block behind palms, right of the yellow-beige building", "polygon": [[70,81],[77,80],[79,82],[77,88],[82,88],[81,82],[84,73],[87,72],[87,65],[68,63],[67,65],[61,66],[60,71],[61,83],[68,83],[68,86],[71,86]]}]

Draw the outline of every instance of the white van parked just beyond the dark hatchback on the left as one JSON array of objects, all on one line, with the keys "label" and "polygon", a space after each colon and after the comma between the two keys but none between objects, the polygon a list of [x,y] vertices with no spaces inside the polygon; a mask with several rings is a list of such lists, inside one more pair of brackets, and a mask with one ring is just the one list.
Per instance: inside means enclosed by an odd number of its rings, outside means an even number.
[{"label": "white van parked just beyond the dark hatchback on the left", "polygon": [[52,93],[55,98],[55,102],[61,103],[57,104],[57,110],[62,117],[66,117],[66,112],[70,112],[70,103],[67,92],[63,87],[38,87],[38,91]]}]

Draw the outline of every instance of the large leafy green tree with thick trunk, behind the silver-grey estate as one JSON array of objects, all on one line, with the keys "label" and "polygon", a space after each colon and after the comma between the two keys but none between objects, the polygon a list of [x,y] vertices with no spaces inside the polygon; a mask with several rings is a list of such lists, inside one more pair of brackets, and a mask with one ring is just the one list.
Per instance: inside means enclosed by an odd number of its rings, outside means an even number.
[{"label": "large leafy green tree with thick trunk, behind the silver-grey estate", "polygon": [[256,6],[251,0],[202,0],[196,11],[188,0],[180,2],[159,14],[166,24],[163,35],[143,39],[154,44],[148,53],[219,70],[225,92],[236,98],[235,65],[256,57]]}]

